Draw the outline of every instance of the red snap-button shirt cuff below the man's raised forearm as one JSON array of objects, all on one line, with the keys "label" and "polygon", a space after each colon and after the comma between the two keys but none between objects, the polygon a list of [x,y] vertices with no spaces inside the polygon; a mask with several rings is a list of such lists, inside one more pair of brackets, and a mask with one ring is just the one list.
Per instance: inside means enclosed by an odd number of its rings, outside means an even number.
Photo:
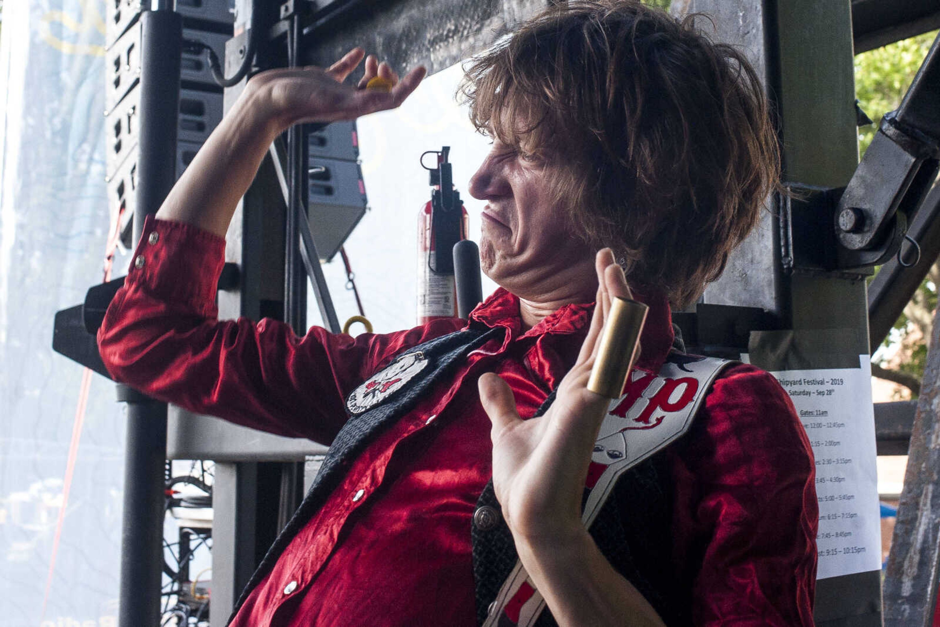
[{"label": "red snap-button shirt cuff below the man's raised forearm", "polygon": [[209,315],[225,265],[225,238],[183,222],[148,215],[124,283]]}]

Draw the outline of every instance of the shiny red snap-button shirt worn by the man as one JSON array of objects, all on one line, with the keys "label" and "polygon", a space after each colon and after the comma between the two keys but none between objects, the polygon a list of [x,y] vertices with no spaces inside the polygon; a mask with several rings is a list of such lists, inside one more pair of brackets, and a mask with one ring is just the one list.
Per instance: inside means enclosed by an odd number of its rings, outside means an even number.
[{"label": "shiny red snap-button shirt worn by the man", "polygon": [[[276,321],[217,321],[224,241],[153,220],[144,232],[135,253],[143,260],[99,333],[102,358],[116,379],[198,413],[329,443],[356,385],[401,351],[462,327],[436,321],[354,339],[315,327],[298,338]],[[665,299],[647,300],[638,367],[658,372],[672,329]],[[478,375],[506,378],[520,414],[532,415],[573,363],[589,312],[565,306],[523,332],[518,301],[497,290],[474,318],[505,327],[506,337],[471,353],[451,382],[370,443],[233,624],[475,624],[469,529],[492,453]],[[773,377],[727,370],[693,431],[666,454],[676,582],[689,589],[696,624],[812,624],[812,455]]]}]

